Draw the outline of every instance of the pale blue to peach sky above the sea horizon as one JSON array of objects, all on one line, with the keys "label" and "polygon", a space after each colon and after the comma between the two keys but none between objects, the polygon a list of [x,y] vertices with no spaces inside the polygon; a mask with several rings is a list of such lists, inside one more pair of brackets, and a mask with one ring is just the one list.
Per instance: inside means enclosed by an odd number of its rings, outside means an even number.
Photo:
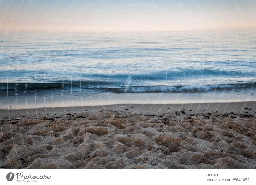
[{"label": "pale blue to peach sky above the sea horizon", "polygon": [[0,0],[0,30],[140,32],[255,29],[255,0]]}]

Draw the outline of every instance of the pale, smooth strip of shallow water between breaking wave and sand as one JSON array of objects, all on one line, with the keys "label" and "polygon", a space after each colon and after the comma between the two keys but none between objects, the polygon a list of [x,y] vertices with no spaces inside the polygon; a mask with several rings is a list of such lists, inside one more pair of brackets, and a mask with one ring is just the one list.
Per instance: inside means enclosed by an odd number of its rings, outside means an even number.
[{"label": "pale, smooth strip of shallow water between breaking wave and sand", "polygon": [[[34,108],[51,108],[51,107],[111,107],[112,105],[129,105],[129,104],[199,104],[199,103],[231,103],[256,101],[252,92],[236,91],[205,91],[204,93],[187,92],[187,93],[53,93],[53,94],[34,94],[15,96],[0,96],[1,109],[34,109]],[[118,108],[118,106],[116,106]]]}]

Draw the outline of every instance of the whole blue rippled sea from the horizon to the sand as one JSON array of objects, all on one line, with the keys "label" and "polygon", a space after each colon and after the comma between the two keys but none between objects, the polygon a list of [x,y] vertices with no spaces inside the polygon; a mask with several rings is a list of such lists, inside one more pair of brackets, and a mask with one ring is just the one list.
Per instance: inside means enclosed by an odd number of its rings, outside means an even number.
[{"label": "whole blue rippled sea from the horizon to the sand", "polygon": [[256,99],[255,30],[1,31],[0,43],[0,108]]}]

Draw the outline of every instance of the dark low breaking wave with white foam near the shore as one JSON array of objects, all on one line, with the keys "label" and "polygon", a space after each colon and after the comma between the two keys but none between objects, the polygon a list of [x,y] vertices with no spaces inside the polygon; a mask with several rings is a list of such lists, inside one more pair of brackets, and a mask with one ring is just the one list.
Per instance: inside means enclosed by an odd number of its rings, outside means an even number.
[{"label": "dark low breaking wave with white foam near the shore", "polygon": [[215,85],[158,85],[158,86],[129,86],[105,81],[74,81],[54,83],[0,83],[2,93],[14,91],[40,92],[49,90],[100,91],[109,93],[183,93],[205,92],[217,90],[241,90],[252,87],[253,83],[215,84]]}]

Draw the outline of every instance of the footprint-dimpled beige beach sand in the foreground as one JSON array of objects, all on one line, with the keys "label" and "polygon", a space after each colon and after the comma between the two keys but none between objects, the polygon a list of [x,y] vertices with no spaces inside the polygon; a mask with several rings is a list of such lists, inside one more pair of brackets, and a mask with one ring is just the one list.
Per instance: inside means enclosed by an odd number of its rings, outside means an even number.
[{"label": "footprint-dimpled beige beach sand in the foreground", "polygon": [[255,102],[10,108],[2,169],[256,168]]}]

